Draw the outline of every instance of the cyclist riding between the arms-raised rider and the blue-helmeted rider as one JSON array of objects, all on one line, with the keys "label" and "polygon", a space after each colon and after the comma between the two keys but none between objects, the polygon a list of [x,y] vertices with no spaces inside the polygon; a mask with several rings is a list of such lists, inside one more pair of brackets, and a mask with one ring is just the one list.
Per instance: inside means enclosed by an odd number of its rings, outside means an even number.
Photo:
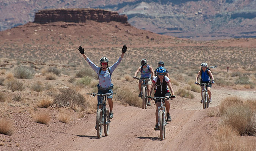
[{"label": "cyclist riding between the arms-raised rider and the blue-helmeted rider", "polygon": [[[140,64],[141,64],[141,66],[140,66],[140,67],[137,69],[137,71],[135,72],[133,79],[136,78],[138,72],[140,72],[141,78],[151,78],[151,77],[154,77],[154,76],[155,76],[155,74],[154,74],[154,72],[153,72],[154,70],[153,70],[152,66],[149,66],[149,65],[148,65],[148,61],[147,61],[146,59],[142,59],[142,60],[140,61]],[[142,82],[143,82],[143,80],[140,79],[140,80],[139,80],[139,90],[140,90],[139,97],[141,97],[141,83],[142,83]],[[152,84],[152,80],[145,80],[145,83],[146,83],[146,85],[147,85],[148,94],[149,94],[149,92],[150,92],[150,87],[151,87],[151,84]],[[151,99],[148,100],[148,106],[151,105],[150,100],[151,100]]]}]

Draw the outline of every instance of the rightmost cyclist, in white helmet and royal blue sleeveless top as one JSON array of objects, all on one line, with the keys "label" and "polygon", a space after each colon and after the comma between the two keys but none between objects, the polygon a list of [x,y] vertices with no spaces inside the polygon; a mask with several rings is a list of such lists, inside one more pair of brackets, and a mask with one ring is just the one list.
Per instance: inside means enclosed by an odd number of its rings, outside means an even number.
[{"label": "rightmost cyclist, in white helmet and royal blue sleeveless top", "polygon": [[[208,83],[210,82],[210,79],[212,79],[212,84],[214,84],[214,76],[212,75],[212,71],[210,71],[210,69],[207,67],[207,63],[203,62],[201,63],[201,70],[198,72],[197,76],[196,76],[196,82],[195,84],[198,84],[197,80],[198,78],[201,76],[201,80],[200,83]],[[212,103],[212,93],[210,92],[210,89],[212,88],[212,84],[207,85],[207,92],[209,94],[209,103]],[[201,98],[202,98],[202,92],[203,92],[204,86],[201,86]],[[201,99],[201,102],[203,103],[203,99]]]}]

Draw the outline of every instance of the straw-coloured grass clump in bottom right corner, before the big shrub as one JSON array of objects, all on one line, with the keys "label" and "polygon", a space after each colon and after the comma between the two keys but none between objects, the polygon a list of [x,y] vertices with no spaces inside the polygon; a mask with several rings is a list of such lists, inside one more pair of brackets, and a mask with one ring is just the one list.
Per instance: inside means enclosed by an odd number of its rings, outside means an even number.
[{"label": "straw-coloured grass clump in bottom right corner, before the big shrub", "polygon": [[251,145],[239,138],[239,132],[229,125],[221,125],[215,134],[214,151],[252,151]]}]

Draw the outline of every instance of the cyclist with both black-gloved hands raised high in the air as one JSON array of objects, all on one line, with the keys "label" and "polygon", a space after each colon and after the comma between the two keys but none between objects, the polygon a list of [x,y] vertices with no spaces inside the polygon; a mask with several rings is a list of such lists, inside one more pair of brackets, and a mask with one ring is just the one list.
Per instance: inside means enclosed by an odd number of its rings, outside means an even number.
[{"label": "cyclist with both black-gloved hands raised high in the air", "polygon": [[[79,51],[80,53],[83,55],[84,59],[89,63],[89,65],[91,66],[91,68],[93,68],[93,70],[98,74],[98,79],[99,79],[99,84],[97,85],[98,87],[98,94],[104,94],[104,93],[113,93],[113,83],[111,80],[111,75],[113,73],[113,71],[116,69],[116,67],[121,63],[124,54],[126,52],[127,46],[124,45],[122,48],[122,54],[121,57],[119,57],[119,59],[117,60],[117,62],[112,65],[112,66],[108,66],[108,59],[106,57],[102,57],[100,59],[100,63],[101,63],[101,67],[96,66],[86,55],[85,55],[85,50],[79,46]],[[107,100],[108,100],[108,105],[110,108],[110,113],[109,113],[109,119],[113,118],[113,100],[112,100],[113,96],[108,96]],[[98,104],[101,101],[101,97],[97,96],[98,99]]]}]

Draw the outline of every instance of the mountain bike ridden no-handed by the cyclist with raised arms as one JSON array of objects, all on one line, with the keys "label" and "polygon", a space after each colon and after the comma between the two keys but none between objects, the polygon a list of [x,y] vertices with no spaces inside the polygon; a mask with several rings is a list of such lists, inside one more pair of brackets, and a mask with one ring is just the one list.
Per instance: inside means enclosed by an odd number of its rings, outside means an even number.
[{"label": "mountain bike ridden no-handed by the cyclist with raised arms", "polygon": [[96,116],[96,129],[97,129],[97,136],[100,139],[102,137],[102,127],[104,126],[104,133],[105,136],[108,136],[109,134],[109,125],[110,125],[110,119],[109,119],[109,109],[106,108],[106,99],[107,96],[110,96],[112,94],[116,93],[105,93],[105,94],[97,94],[97,93],[86,93],[93,97],[95,96],[101,96],[101,102],[97,104],[97,116]]}]

